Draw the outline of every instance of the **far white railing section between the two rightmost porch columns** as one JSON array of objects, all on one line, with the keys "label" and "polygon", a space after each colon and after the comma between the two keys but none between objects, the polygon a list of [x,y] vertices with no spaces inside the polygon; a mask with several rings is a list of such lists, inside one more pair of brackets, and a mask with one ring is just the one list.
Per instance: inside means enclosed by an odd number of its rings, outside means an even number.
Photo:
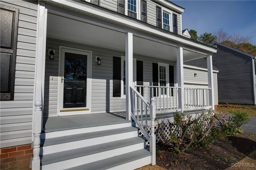
[{"label": "far white railing section between the two rightmost porch columns", "polygon": [[210,90],[210,88],[184,88],[185,109],[209,109]]}]

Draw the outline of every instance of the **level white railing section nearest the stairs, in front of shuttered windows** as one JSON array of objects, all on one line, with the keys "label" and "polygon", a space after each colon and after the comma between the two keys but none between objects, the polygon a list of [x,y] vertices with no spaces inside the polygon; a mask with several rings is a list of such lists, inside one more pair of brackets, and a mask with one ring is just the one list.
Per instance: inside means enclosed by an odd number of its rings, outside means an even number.
[{"label": "level white railing section nearest the stairs, in front of shuttered windows", "polygon": [[155,99],[156,113],[180,111],[178,90],[179,87],[164,86],[134,86],[137,91],[149,102]]}]

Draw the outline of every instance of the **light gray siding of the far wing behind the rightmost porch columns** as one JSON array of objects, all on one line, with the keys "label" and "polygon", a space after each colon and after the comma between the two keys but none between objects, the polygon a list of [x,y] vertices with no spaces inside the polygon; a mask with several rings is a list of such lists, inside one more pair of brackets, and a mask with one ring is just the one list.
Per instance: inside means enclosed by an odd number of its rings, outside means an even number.
[{"label": "light gray siding of the far wing behind the rightmost porch columns", "polygon": [[[194,77],[194,73],[197,74]],[[213,73],[214,104],[218,105],[218,73]],[[184,68],[185,87],[208,88],[208,73],[203,70]]]}]

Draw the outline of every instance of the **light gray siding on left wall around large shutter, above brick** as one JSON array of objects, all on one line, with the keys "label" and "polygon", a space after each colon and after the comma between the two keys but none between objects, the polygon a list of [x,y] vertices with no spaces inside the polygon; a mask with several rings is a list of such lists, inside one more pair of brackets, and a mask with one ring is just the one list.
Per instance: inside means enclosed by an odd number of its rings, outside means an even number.
[{"label": "light gray siding on left wall around large shutter, above brick", "polygon": [[37,4],[1,1],[19,8],[14,100],[1,101],[1,148],[31,143],[36,57]]}]

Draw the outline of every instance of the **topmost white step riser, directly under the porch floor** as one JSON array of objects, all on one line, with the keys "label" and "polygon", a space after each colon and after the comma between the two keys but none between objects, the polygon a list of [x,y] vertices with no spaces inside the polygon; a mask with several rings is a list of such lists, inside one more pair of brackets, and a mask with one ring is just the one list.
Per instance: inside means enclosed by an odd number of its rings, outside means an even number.
[{"label": "topmost white step riser, directly under the porch floor", "polygon": [[94,126],[94,127],[90,127],[90,128],[80,128],[80,129],[70,129],[70,130],[64,130],[64,131],[48,132],[48,133],[42,134],[41,139],[50,139],[50,138],[63,137],[66,135],[106,131],[106,130],[119,129],[119,128],[127,128],[127,127],[130,127],[131,125],[132,125],[132,123],[130,122],[130,123],[111,124],[111,125],[105,125],[105,126]]}]

